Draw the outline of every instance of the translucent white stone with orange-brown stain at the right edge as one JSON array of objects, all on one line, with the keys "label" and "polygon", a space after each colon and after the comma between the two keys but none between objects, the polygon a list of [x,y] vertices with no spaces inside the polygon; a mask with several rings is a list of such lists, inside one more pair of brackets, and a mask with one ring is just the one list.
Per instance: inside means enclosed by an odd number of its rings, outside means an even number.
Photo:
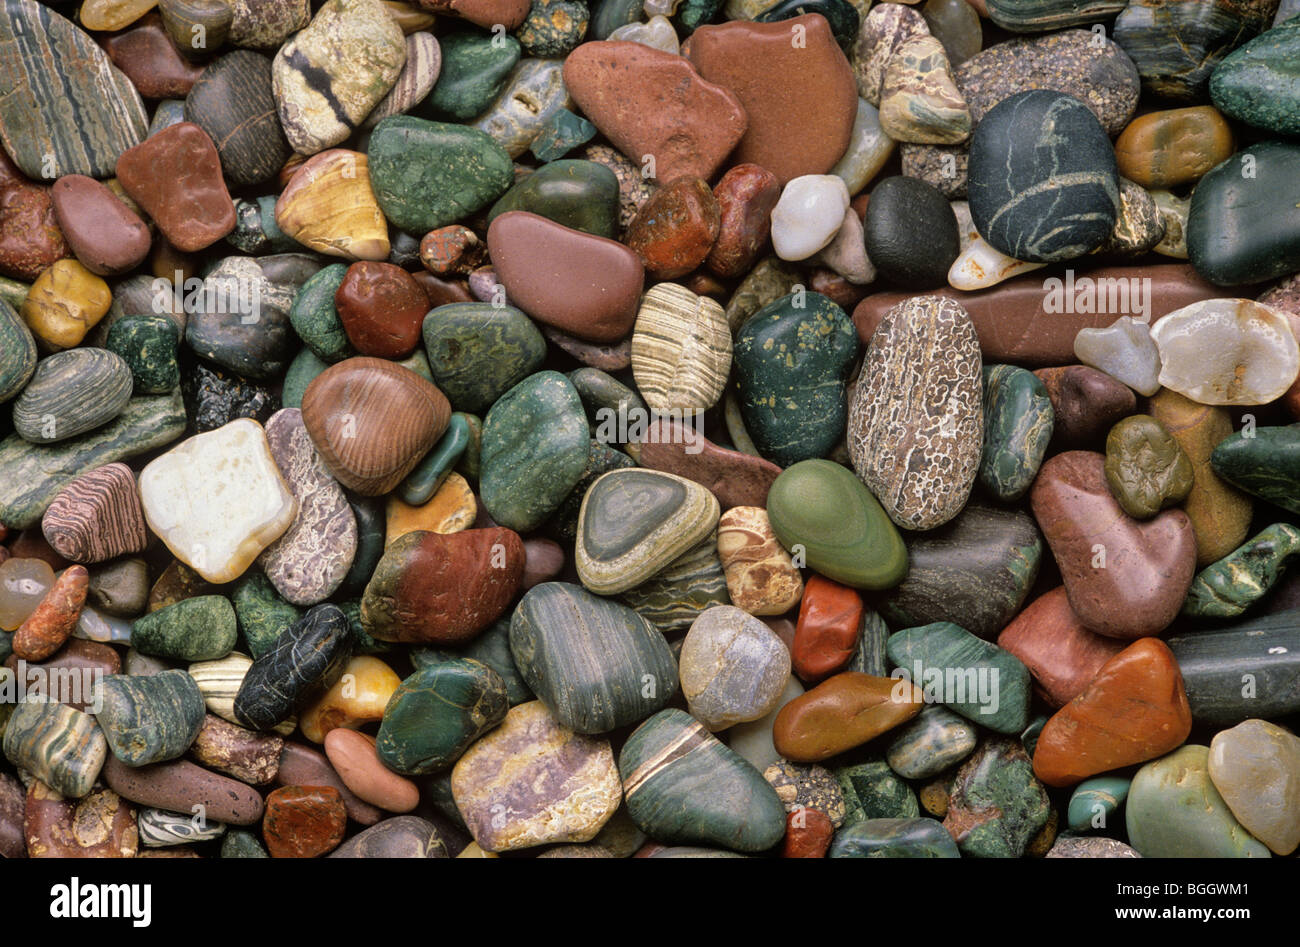
[{"label": "translucent white stone with orange-brown stain at the right edge", "polygon": [[1160,384],[1201,405],[1266,405],[1300,375],[1300,349],[1280,310],[1252,299],[1206,299],[1150,332]]}]

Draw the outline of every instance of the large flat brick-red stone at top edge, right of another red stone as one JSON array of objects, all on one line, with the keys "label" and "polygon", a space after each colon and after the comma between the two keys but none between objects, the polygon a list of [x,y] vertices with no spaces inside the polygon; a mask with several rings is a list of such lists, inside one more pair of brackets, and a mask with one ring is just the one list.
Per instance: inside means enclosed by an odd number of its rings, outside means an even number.
[{"label": "large flat brick-red stone at top edge, right of another red stone", "polygon": [[[790,42],[796,34],[803,40],[797,47]],[[826,174],[844,156],[857,86],[819,13],[701,26],[685,55],[706,81],[732,91],[749,116],[736,161],[767,168],[784,186],[803,174]],[[812,101],[824,107],[809,108]]]}]

